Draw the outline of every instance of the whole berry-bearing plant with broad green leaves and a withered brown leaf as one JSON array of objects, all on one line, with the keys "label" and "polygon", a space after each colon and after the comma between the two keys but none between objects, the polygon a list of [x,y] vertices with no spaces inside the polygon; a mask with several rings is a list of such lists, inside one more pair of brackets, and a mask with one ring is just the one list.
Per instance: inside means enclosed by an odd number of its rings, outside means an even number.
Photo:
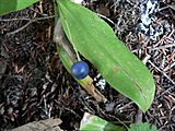
[{"label": "whole berry-bearing plant with broad green leaves and a withered brown leaf", "polygon": [[[24,9],[37,1],[0,1],[0,15]],[[110,26],[96,13],[70,0],[55,1],[55,14],[54,39],[59,43],[58,53],[72,76],[98,102],[106,102],[102,94],[94,92],[92,79],[88,75],[88,66],[80,62],[73,68],[74,62],[81,61],[79,57],[81,53],[112,87],[133,100],[142,111],[147,111],[155,92],[153,78],[145,66],[116,37]],[[65,34],[59,34],[61,26],[68,39],[63,38]],[[57,31],[58,27],[60,31]],[[82,71],[81,75],[78,70]]]}]

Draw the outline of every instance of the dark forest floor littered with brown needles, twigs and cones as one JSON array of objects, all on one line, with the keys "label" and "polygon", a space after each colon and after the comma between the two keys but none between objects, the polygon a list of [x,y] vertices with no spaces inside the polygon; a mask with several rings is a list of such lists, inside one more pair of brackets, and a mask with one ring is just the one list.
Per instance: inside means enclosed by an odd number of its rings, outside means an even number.
[{"label": "dark forest floor littered with brown needles, twigs and cones", "polygon": [[[145,114],[108,84],[104,90],[96,86],[108,99],[106,104],[97,103],[71,78],[52,41],[52,2],[45,0],[0,16],[0,130],[48,118],[60,118],[63,130],[78,130],[88,111],[116,123],[143,121],[160,131],[174,131],[175,1],[159,1],[152,26],[162,27],[163,34],[154,38],[137,27],[141,3],[85,0],[83,5],[101,14],[153,74],[156,93]],[[90,75],[95,78],[97,71],[92,69]]]}]

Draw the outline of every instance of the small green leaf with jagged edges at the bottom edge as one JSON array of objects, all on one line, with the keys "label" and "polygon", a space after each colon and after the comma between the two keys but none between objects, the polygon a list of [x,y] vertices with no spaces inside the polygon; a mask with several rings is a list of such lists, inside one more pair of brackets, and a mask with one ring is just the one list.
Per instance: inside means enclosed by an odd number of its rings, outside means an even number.
[{"label": "small green leaf with jagged edges at the bottom edge", "polygon": [[153,124],[141,122],[139,124],[130,124],[130,129],[128,131],[158,131],[158,129]]}]

